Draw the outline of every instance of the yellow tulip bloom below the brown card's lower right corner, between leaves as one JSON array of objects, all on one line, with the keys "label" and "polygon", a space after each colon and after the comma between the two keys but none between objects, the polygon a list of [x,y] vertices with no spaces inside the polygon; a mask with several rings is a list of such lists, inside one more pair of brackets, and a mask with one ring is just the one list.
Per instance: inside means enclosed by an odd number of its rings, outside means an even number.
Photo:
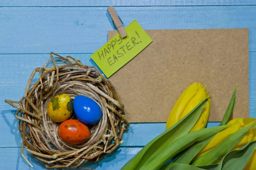
[{"label": "yellow tulip bloom below the brown card's lower right corner, between leaves", "polygon": [[[212,150],[212,148],[216,147],[218,144],[223,142],[224,139],[226,139],[228,136],[230,136],[231,134],[235,133],[239,129],[246,127],[254,122],[256,122],[256,119],[254,119],[254,118],[246,118],[246,119],[236,118],[236,119],[230,120],[229,122],[227,122],[227,125],[231,125],[231,126],[227,127],[227,129],[222,130],[221,132],[217,133],[212,138],[212,140],[207,145],[205,145],[203,147],[203,149],[200,150],[200,152],[197,154],[197,156],[195,156],[194,159],[209,152],[210,150]],[[253,127],[247,133],[245,133],[244,137],[241,139],[241,141],[238,144],[236,144],[236,146],[233,148],[233,150],[240,149],[245,144],[247,144],[253,140],[253,130],[252,129],[253,129]]]}]

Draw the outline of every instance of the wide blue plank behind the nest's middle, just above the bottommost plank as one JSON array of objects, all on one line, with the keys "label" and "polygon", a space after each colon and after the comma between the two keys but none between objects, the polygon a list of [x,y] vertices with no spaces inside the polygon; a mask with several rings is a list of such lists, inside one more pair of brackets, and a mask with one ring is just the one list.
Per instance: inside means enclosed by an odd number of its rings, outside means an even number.
[{"label": "wide blue plank behind the nest's middle, just above the bottommost plank", "polygon": [[[80,59],[84,65],[94,65],[90,54],[61,54]],[[5,99],[19,100],[34,68],[41,67],[49,54],[0,55],[0,147],[19,147],[21,138],[17,131],[15,109],[4,103]],[[256,53],[250,52],[250,117],[256,118]],[[230,87],[233,88],[233,87]],[[216,126],[218,123],[209,123]],[[122,146],[145,146],[165,130],[165,123],[131,124],[123,136]]]}]

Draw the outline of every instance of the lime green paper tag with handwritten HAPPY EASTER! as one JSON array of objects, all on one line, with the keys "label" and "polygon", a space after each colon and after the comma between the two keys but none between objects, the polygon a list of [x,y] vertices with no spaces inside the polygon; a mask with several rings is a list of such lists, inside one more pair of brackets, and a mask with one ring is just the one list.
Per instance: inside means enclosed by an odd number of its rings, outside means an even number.
[{"label": "lime green paper tag with handwritten HAPPY EASTER!", "polygon": [[136,20],[132,21],[125,31],[127,37],[123,39],[118,33],[91,55],[107,77],[111,77],[152,42]]}]

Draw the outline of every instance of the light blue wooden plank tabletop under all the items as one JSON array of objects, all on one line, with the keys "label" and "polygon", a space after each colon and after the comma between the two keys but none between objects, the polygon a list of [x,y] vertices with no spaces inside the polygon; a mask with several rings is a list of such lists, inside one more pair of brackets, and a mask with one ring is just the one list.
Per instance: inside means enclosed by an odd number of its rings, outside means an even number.
[{"label": "light blue wooden plank tabletop under all the items", "polygon": [[[249,28],[250,117],[256,118],[256,1],[1,0],[0,170],[31,169],[20,156],[16,110],[4,99],[23,96],[30,74],[43,66],[50,51],[92,65],[90,55],[107,42],[107,31],[115,30],[107,11],[111,5],[125,26],[136,19],[144,29]],[[115,152],[86,167],[119,170],[164,130],[165,123],[133,123]],[[35,170],[44,168],[25,156]]]}]

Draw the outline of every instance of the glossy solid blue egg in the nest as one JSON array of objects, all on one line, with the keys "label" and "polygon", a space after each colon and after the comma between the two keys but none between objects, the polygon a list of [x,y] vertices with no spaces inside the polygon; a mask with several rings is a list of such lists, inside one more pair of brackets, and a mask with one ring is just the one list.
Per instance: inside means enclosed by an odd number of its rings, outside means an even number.
[{"label": "glossy solid blue egg in the nest", "polygon": [[99,122],[102,116],[98,103],[87,96],[76,96],[73,102],[73,109],[76,117],[86,125],[93,125]]}]

